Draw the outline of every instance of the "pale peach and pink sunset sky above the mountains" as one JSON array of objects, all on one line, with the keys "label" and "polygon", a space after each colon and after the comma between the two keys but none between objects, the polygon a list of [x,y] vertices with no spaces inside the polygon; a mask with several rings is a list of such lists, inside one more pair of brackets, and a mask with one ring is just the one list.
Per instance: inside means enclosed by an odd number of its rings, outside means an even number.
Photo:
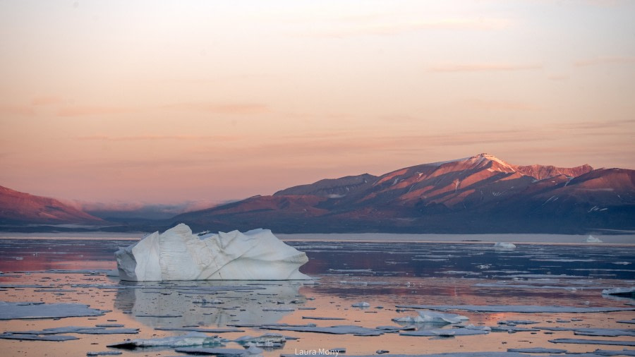
[{"label": "pale peach and pink sunset sky above the mountains", "polygon": [[0,0],[0,186],[206,205],[488,152],[635,169],[635,1]]}]

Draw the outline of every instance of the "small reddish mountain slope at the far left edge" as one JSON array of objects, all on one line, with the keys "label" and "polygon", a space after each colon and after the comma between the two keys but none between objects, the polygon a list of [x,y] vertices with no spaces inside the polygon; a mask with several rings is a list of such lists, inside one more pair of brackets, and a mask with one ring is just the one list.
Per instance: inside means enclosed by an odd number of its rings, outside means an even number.
[{"label": "small reddish mountain slope at the far left edge", "polygon": [[103,224],[75,207],[54,198],[30,195],[0,186],[0,224]]}]

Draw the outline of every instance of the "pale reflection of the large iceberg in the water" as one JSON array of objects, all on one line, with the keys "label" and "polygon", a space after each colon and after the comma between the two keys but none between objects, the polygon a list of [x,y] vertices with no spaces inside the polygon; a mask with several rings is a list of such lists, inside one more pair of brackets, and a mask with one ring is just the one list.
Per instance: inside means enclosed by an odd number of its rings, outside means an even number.
[{"label": "pale reflection of the large iceberg in the water", "polygon": [[114,306],[150,327],[276,323],[306,301],[300,286],[244,281],[131,284],[119,289]]}]

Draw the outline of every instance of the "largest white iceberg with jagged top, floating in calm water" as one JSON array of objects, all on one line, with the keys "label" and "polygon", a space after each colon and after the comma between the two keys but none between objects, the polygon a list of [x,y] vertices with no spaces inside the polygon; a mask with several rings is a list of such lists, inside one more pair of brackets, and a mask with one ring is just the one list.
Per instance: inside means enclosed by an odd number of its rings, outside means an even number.
[{"label": "largest white iceberg with jagged top, floating in calm water", "polygon": [[115,253],[122,280],[295,280],[306,254],[287,246],[268,229],[245,233],[192,234],[179,224],[155,232]]}]

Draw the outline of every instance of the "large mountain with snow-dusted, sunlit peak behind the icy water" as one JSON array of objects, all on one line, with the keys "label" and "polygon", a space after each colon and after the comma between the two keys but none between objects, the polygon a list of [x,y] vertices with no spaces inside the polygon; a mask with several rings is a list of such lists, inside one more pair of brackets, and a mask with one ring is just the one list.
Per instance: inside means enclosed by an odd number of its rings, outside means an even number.
[{"label": "large mountain with snow-dusted, sunlit peak behind the icy water", "polygon": [[517,166],[480,154],[325,179],[180,214],[195,229],[279,233],[568,233],[635,229],[635,171]]}]

